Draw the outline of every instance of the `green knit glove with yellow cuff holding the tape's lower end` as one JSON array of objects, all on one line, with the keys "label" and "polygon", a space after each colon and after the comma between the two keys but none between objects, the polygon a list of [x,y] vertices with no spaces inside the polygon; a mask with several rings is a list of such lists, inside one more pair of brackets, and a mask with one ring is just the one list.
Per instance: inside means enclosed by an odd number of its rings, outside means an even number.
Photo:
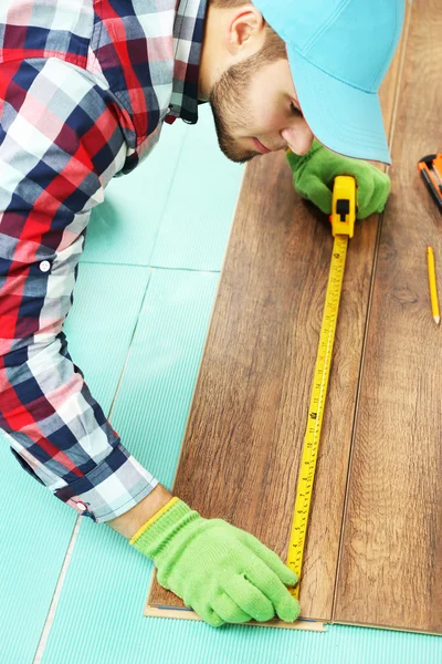
[{"label": "green knit glove with yellow cuff holding the tape's lower end", "polygon": [[[161,513],[162,512],[162,513]],[[293,622],[299,604],[285,585],[296,574],[260,540],[222,519],[203,519],[172,498],[131,538],[151,558],[158,582],[180,596],[210,625],[260,622],[275,616]]]}]

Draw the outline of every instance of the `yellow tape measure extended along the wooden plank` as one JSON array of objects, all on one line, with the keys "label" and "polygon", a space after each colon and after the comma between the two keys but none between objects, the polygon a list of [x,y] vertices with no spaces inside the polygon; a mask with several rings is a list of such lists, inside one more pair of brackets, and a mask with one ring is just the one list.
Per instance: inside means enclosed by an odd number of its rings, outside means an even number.
[{"label": "yellow tape measure extended along the wooden plank", "polygon": [[[348,238],[352,238],[355,217],[355,178],[350,176],[338,176],[335,178],[333,188],[330,215],[332,232],[335,240],[333,245],[332,264],[328,274],[323,322],[320,325],[319,345],[316,356],[311,403],[308,407],[307,427],[299,465],[295,509],[287,553],[287,567],[290,567],[298,578],[301,578],[301,570],[303,567],[307,521],[312,502],[313,483],[319,447],[325,400],[327,395],[328,376],[330,373],[340,292],[343,289]],[[290,591],[294,598],[298,598],[299,583],[296,585],[296,588],[290,589]]]}]

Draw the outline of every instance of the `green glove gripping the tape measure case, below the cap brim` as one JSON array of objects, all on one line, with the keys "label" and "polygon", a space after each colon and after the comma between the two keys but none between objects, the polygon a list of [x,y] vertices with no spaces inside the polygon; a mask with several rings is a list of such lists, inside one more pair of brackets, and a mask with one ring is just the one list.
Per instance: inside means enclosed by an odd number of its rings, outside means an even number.
[{"label": "green glove gripping the tape measure case, below the cap brim", "polygon": [[332,212],[333,183],[337,175],[352,175],[357,185],[357,218],[381,212],[390,193],[390,178],[362,159],[343,157],[318,143],[316,138],[306,155],[286,152],[293,172],[293,186],[326,215]]}]

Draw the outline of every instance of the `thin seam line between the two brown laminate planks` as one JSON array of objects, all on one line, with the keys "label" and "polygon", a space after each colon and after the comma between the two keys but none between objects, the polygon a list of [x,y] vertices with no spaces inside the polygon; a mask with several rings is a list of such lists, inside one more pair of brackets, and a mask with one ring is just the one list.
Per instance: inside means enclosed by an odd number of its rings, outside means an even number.
[{"label": "thin seam line between the two brown laminate planks", "polygon": [[[399,106],[399,96],[400,96],[400,92],[401,92],[403,63],[406,60],[406,53],[407,53],[407,49],[408,49],[409,29],[410,29],[410,23],[411,23],[411,10],[412,10],[412,7],[410,3],[409,13],[407,17],[407,24],[406,24],[406,29],[404,29],[404,39],[403,39],[403,42],[401,45],[402,51],[401,51],[401,56],[400,56],[399,72],[398,72],[398,77],[397,77],[397,83],[396,83],[394,106],[393,106],[393,112],[392,112],[392,116],[391,116],[391,126],[390,126],[390,133],[389,133],[390,152],[392,152],[392,147],[393,147],[393,136],[394,136],[396,118],[397,118],[398,106]],[[389,170],[389,166],[387,167],[386,172],[388,173],[388,170]],[[359,401],[360,401],[360,392],[361,392],[362,377],[364,377],[365,357],[366,357],[366,352],[367,352],[368,332],[369,332],[369,326],[370,326],[370,313],[371,313],[373,292],[375,292],[375,281],[376,281],[376,272],[377,272],[377,267],[378,267],[379,246],[380,246],[381,234],[382,234],[383,215],[385,215],[385,212],[381,212],[378,218],[378,231],[377,231],[376,242],[375,242],[370,289],[369,289],[368,302],[367,302],[366,322],[364,325],[362,349],[361,349],[361,355],[360,355],[360,364],[359,364],[359,373],[358,373],[356,400],[355,400],[355,408],[354,408],[354,418],[352,418],[352,426],[351,426],[351,434],[350,434],[350,449],[349,449],[348,466],[347,466],[347,478],[346,478],[346,486],[345,486],[343,518],[340,521],[339,548],[338,548],[338,557],[337,557],[337,563],[336,563],[335,587],[334,587],[334,591],[333,591],[330,623],[335,623],[339,574],[340,574],[340,569],[341,569],[341,563],[343,563],[344,537],[345,537],[345,530],[346,530],[346,519],[347,519],[347,513],[348,513],[349,485],[350,485],[352,458],[354,458],[354,452],[355,452],[356,429],[357,429],[358,414],[359,414]]]}]

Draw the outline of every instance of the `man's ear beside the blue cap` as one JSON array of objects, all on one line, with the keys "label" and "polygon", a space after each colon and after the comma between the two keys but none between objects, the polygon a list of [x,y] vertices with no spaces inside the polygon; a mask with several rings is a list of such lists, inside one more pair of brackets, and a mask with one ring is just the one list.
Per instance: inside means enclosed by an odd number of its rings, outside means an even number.
[{"label": "man's ear beside the blue cap", "polygon": [[239,7],[228,22],[225,45],[231,55],[257,53],[265,40],[265,21],[253,6]]}]

